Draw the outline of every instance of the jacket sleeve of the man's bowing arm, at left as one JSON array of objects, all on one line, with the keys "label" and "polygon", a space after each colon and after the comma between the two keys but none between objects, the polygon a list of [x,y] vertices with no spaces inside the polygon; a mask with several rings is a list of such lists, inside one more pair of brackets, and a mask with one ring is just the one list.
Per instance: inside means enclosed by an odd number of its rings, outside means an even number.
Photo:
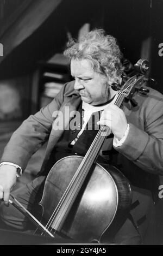
[{"label": "jacket sleeve of the man's bowing arm, at left", "polygon": [[12,134],[4,148],[1,162],[18,164],[24,170],[28,160],[48,139],[52,129],[52,114],[59,110],[64,102],[65,86],[47,106],[35,115],[30,115],[21,126]]}]

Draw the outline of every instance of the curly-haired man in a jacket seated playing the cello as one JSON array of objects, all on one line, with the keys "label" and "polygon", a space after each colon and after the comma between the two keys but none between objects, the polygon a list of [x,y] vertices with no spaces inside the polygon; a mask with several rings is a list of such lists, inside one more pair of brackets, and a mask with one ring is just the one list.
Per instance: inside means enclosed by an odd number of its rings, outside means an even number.
[{"label": "curly-haired man in a jacket seated playing the cello", "polygon": [[[121,85],[124,71],[122,53],[116,39],[103,29],[87,33],[79,42],[70,40],[64,54],[71,60],[74,80],[65,84],[50,104],[29,116],[11,136],[1,159],[0,198],[9,205],[17,172],[26,169],[30,157],[48,140],[39,175],[12,193],[37,216],[35,209],[49,170],[63,157],[86,154],[95,131],[84,127],[93,112],[103,111],[98,124],[110,127],[112,136],[104,141],[99,160],[116,165],[128,178],[133,194],[130,218],[112,241],[140,245],[149,225],[149,209],[152,211],[154,207],[156,181],[162,175],[163,97],[150,89],[147,96],[135,93],[136,106],[124,102],[120,109],[114,104],[118,93],[114,85]],[[80,129],[55,130],[54,112],[65,107],[83,113]],[[6,227],[29,228],[27,217],[12,205],[4,204],[1,204],[1,220]]]}]

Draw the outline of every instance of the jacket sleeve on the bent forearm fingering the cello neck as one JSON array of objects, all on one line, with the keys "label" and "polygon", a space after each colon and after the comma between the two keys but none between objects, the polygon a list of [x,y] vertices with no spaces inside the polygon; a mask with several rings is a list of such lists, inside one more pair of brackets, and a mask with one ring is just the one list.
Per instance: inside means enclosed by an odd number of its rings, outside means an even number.
[{"label": "jacket sleeve on the bent forearm fingering the cello neck", "polygon": [[122,146],[115,149],[141,169],[163,175],[163,103],[158,101],[148,113],[145,130],[130,123]]}]

